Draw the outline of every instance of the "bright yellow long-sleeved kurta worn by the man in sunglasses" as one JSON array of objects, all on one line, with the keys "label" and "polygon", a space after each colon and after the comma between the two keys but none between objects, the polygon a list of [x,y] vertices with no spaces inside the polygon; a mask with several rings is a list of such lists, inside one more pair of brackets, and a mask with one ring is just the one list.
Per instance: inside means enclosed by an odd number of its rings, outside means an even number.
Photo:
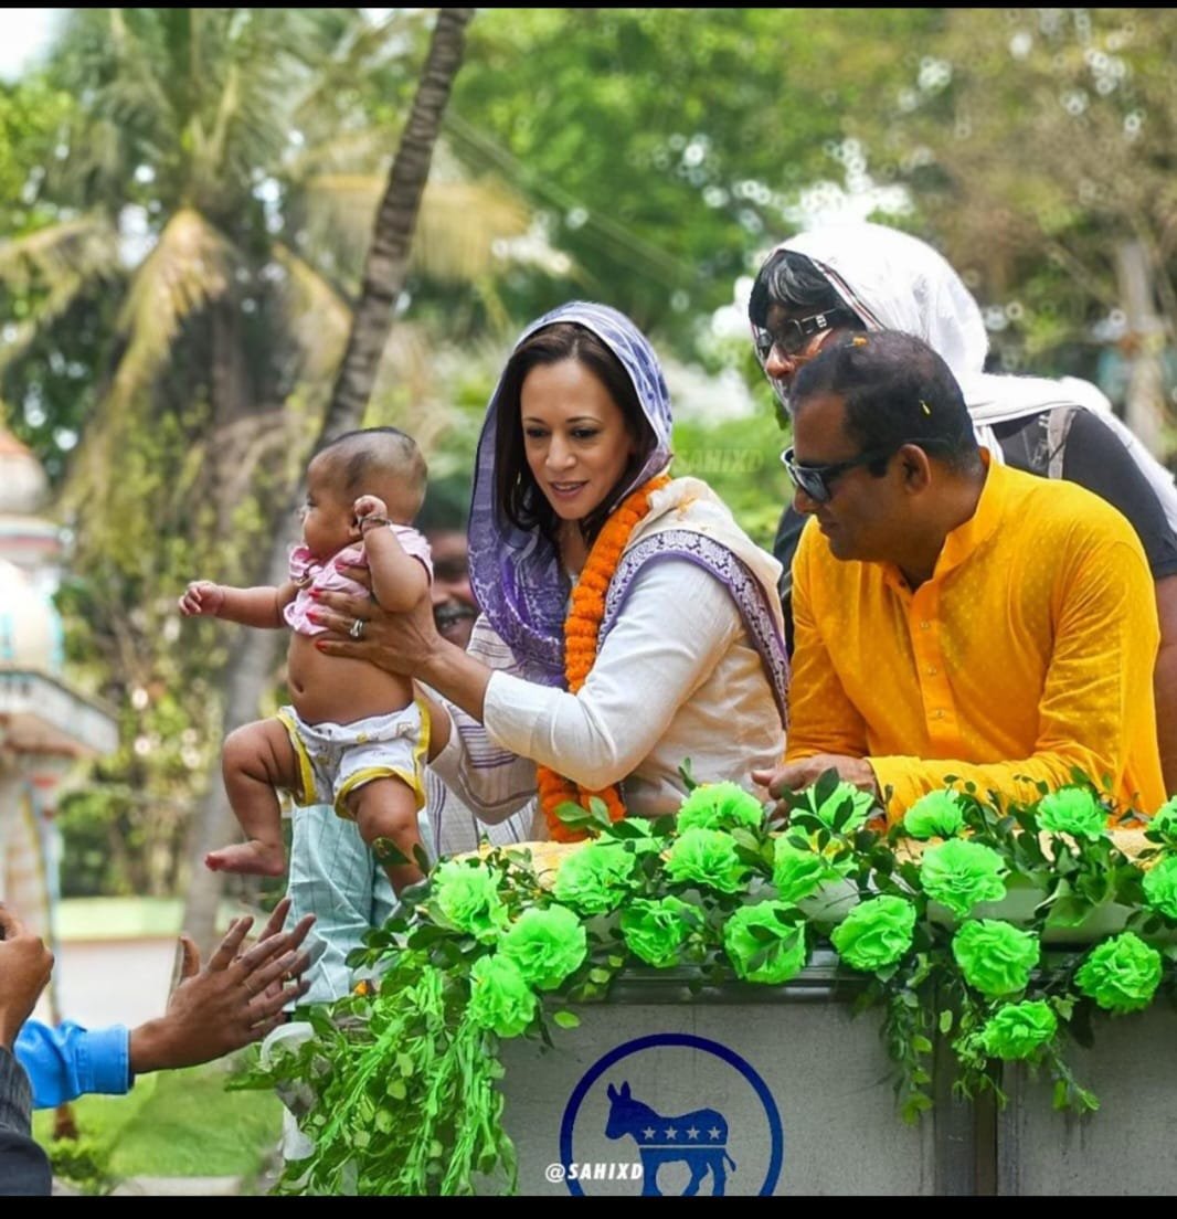
[{"label": "bright yellow long-sleeved kurta worn by the man in sunglasses", "polygon": [[1073,483],[992,466],[915,592],[810,521],[793,620],[786,761],[869,758],[892,818],[949,777],[1032,802],[1073,768],[1125,807],[1165,800],[1153,579],[1128,522]]}]

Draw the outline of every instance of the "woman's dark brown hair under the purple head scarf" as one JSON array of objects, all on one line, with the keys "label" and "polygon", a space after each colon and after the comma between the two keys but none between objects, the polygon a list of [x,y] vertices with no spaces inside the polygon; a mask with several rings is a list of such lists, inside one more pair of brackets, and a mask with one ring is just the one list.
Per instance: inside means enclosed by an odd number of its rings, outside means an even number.
[{"label": "woman's dark brown hair under the purple head scarf", "polygon": [[581,534],[592,545],[617,506],[615,501],[636,478],[657,440],[621,361],[592,330],[575,322],[556,322],[529,334],[507,361],[492,402],[496,421],[495,502],[497,511],[515,528],[539,529],[548,541],[556,542],[559,518],[528,466],[520,399],[523,383],[532,368],[565,360],[575,360],[604,385],[625,418],[626,430],[637,441],[621,477],[601,505],[580,522]]}]

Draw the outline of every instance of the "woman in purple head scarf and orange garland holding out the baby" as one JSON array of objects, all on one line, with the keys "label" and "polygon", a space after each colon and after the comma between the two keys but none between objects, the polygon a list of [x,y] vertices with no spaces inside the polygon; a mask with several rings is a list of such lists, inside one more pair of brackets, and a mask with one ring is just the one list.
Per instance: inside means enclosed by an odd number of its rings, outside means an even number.
[{"label": "woman in purple head scarf and orange garland holding out the baby", "polygon": [[686,794],[687,759],[697,781],[751,787],[782,756],[780,564],[705,483],[669,478],[670,458],[645,335],[617,310],[564,305],[528,327],[487,407],[468,650],[428,605],[324,597],[325,650],[398,666],[446,700],[431,766],[484,820],[539,792],[548,833],[571,837],[562,801],[662,816]]}]

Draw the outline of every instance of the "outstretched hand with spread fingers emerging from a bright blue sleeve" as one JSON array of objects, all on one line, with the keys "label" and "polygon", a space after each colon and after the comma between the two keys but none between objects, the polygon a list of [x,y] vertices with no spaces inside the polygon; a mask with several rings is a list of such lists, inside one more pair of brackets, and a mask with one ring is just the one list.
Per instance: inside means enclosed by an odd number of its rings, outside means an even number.
[{"label": "outstretched hand with spread fingers emerging from a bright blue sleeve", "polygon": [[130,1069],[139,1074],[193,1067],[258,1041],[285,1019],[283,1007],[307,992],[301,975],[311,963],[299,947],[314,923],[308,914],[292,931],[281,930],[290,898],[274,908],[258,942],[241,953],[251,918],[234,919],[208,964],[200,950],[180,936],[180,984],[167,1012],[130,1030]]}]

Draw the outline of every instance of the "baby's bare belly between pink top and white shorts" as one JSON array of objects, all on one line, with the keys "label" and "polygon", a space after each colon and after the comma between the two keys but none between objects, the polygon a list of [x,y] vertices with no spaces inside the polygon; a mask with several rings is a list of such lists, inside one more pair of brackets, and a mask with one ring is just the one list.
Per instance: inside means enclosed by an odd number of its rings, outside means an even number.
[{"label": "baby's bare belly between pink top and white shorts", "polygon": [[286,655],[290,702],[308,724],[351,724],[400,711],[413,701],[409,678],[367,661],[325,656],[307,635],[291,634]]}]

